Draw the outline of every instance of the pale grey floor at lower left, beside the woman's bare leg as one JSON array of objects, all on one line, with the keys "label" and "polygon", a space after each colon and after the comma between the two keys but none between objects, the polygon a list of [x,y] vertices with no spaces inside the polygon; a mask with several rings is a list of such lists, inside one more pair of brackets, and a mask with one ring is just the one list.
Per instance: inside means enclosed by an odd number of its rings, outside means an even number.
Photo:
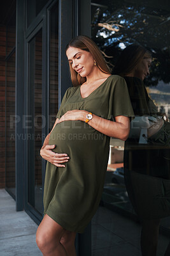
[{"label": "pale grey floor at lower left, beside the woman's bare leg", "polygon": [[15,200],[0,189],[0,255],[42,255],[36,246],[37,228],[25,211],[15,211]]}]

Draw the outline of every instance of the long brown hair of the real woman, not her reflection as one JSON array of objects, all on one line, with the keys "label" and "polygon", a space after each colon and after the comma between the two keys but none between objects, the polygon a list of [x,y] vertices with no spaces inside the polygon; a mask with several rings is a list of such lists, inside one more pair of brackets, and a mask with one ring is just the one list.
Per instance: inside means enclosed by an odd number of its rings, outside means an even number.
[{"label": "long brown hair of the real woman, not her reflection", "polygon": [[[90,52],[90,54],[92,54],[92,58],[96,60],[97,67],[99,67],[102,72],[110,74],[110,70],[106,65],[106,62],[104,61],[101,51],[99,50],[95,42],[91,38],[89,38],[89,36],[76,36],[69,42],[69,44],[67,44],[66,51],[69,47],[74,47],[83,51]],[[78,86],[82,83],[85,83],[86,77],[81,77],[80,74],[78,74],[72,68],[71,63],[69,63],[69,70],[71,73],[71,81],[73,83],[73,86]]]}]

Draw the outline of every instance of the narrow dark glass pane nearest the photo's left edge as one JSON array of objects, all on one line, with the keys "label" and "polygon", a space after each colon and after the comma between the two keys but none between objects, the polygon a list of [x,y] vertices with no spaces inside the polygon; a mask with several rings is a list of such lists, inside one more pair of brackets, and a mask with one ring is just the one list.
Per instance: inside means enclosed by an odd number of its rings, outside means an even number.
[{"label": "narrow dark glass pane nearest the photo's left edge", "polygon": [[6,188],[15,195],[15,52],[6,62]]}]

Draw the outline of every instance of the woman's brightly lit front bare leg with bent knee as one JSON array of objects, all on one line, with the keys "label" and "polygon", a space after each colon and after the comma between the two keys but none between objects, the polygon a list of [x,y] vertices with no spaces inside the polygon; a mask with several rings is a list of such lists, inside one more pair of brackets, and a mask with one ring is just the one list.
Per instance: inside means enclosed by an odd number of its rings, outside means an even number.
[{"label": "woman's brightly lit front bare leg with bent knee", "polygon": [[66,249],[60,243],[64,232],[66,232],[64,228],[47,214],[45,215],[36,233],[36,243],[43,256],[68,256]]}]

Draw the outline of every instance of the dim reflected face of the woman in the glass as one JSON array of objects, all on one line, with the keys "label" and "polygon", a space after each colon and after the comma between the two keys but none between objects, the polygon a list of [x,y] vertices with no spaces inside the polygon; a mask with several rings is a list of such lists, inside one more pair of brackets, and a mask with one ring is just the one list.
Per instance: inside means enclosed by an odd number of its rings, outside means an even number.
[{"label": "dim reflected face of the woman in the glass", "polygon": [[134,76],[140,78],[141,80],[145,79],[145,77],[150,74],[149,68],[151,63],[152,59],[148,58],[148,56],[144,56],[144,58],[136,66]]}]

